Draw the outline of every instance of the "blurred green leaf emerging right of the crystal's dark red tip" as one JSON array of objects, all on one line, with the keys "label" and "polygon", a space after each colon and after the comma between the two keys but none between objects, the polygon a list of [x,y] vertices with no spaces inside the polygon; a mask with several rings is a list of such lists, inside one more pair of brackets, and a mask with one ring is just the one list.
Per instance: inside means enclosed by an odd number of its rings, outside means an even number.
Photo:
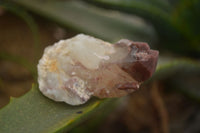
[{"label": "blurred green leaf emerging right of the crystal's dark red tip", "polygon": [[163,82],[167,90],[176,91],[200,103],[200,63],[191,59],[161,58],[153,77],[147,81]]}]

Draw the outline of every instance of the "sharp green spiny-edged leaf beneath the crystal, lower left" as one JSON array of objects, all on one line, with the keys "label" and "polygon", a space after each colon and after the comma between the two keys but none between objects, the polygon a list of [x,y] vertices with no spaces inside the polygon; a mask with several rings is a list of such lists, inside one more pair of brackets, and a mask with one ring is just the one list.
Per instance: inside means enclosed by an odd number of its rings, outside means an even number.
[{"label": "sharp green spiny-edged leaf beneath the crystal, lower left", "polygon": [[91,99],[81,106],[54,102],[43,96],[36,85],[20,98],[12,98],[0,110],[1,133],[64,132],[83,121],[89,114],[114,99]]}]

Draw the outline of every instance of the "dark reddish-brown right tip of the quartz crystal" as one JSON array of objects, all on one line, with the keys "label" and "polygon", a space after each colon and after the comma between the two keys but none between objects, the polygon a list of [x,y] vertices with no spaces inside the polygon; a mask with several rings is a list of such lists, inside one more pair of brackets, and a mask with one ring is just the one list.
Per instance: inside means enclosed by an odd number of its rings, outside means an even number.
[{"label": "dark reddish-brown right tip of the quartz crystal", "polygon": [[126,39],[120,40],[116,45],[129,47],[129,57],[132,59],[123,64],[122,69],[124,71],[138,82],[143,82],[152,76],[157,65],[158,51],[151,50],[147,43]]}]

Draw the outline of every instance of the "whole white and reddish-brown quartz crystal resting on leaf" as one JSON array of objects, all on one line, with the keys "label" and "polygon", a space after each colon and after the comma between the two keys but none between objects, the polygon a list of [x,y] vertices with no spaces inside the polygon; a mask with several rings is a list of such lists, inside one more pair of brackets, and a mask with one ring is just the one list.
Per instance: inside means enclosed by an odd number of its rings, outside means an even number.
[{"label": "whole white and reddish-brown quartz crystal resting on leaf", "polygon": [[79,34],[45,49],[38,64],[40,91],[71,105],[91,96],[121,97],[137,90],[155,71],[158,51],[122,39],[110,44]]}]

